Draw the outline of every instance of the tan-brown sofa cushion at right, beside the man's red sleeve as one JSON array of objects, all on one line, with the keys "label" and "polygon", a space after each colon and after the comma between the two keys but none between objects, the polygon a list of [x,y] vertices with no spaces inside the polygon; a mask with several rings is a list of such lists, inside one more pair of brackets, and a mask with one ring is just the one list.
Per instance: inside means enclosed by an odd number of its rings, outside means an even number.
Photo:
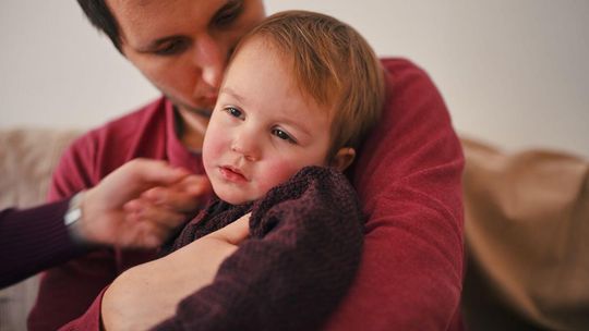
[{"label": "tan-brown sofa cushion at right, beside the man's red sleeve", "polygon": [[589,163],[462,138],[470,330],[589,330]]}]

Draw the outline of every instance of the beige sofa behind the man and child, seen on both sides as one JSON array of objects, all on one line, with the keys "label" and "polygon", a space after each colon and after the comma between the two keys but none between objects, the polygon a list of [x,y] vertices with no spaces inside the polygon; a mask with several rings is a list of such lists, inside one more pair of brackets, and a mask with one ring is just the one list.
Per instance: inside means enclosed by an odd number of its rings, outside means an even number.
[{"label": "beige sofa behind the man and child, seen on both sides", "polygon": [[[77,131],[0,131],[0,207],[44,200]],[[462,309],[470,330],[589,330],[589,164],[506,155],[462,139],[467,159]],[[0,291],[0,330],[25,330],[32,278]]]}]

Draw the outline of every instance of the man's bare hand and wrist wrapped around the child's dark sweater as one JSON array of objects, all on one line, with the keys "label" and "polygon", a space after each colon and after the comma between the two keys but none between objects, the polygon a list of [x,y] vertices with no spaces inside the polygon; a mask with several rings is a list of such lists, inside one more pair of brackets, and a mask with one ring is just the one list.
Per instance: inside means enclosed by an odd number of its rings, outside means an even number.
[{"label": "man's bare hand and wrist wrapped around the child's dark sweater", "polygon": [[127,270],[103,297],[105,329],[146,330],[172,317],[182,298],[213,282],[221,262],[248,237],[249,221],[250,213],[164,258]]}]

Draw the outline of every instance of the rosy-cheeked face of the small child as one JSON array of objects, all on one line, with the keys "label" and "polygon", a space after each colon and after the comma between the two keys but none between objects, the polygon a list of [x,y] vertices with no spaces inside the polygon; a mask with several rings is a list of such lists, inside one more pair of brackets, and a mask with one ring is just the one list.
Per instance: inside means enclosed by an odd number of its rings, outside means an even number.
[{"label": "rosy-cheeked face of the small child", "polygon": [[326,166],[328,109],[301,94],[280,56],[259,38],[232,60],[208,124],[203,162],[219,198],[255,200],[305,166]]}]

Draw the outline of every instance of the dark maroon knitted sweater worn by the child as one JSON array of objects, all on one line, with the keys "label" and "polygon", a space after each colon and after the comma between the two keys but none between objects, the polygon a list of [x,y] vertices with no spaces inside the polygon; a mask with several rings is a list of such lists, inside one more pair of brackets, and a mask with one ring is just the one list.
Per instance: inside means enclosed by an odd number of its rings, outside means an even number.
[{"label": "dark maroon knitted sweater worn by the child", "polygon": [[157,330],[315,330],[336,308],[362,247],[362,213],[346,177],[308,167],[254,204],[215,199],[173,250],[249,211],[250,238]]}]

